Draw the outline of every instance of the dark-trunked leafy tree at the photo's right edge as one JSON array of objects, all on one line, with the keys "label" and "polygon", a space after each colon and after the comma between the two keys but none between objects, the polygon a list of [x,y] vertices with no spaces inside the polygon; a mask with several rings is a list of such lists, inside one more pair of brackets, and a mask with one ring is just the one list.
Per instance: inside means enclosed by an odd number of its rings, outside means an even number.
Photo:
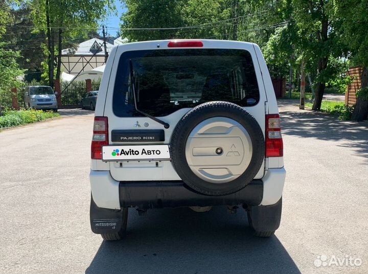
[{"label": "dark-trunked leafy tree at the photo's right edge", "polygon": [[334,0],[334,13],[341,23],[341,41],[344,55],[363,66],[361,91],[357,96],[352,119],[368,117],[368,2],[366,0]]}]

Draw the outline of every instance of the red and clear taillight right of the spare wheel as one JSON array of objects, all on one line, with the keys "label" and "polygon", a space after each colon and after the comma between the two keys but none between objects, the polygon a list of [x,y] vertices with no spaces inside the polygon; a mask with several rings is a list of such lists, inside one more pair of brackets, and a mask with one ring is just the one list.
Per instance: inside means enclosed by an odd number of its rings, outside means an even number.
[{"label": "red and clear taillight right of the spare wheel", "polygon": [[266,157],[284,155],[279,114],[266,114]]}]

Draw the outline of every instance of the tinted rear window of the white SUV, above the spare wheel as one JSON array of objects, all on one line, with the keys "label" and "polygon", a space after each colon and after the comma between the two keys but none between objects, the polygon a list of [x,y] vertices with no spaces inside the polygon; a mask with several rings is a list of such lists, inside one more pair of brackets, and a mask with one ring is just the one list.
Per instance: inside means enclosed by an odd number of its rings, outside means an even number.
[{"label": "tinted rear window of the white SUV, above the spare wheel", "polygon": [[134,108],[129,60],[135,77],[137,108],[169,115],[210,101],[246,107],[259,101],[250,53],[242,49],[156,49],[130,51],[119,60],[112,108],[120,117],[141,116]]}]

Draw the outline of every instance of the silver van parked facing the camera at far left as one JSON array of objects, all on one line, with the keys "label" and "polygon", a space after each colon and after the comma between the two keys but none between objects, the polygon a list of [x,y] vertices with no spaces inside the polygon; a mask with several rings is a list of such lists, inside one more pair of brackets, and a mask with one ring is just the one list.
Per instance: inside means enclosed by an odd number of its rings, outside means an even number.
[{"label": "silver van parked facing the camera at far left", "polygon": [[54,90],[50,86],[28,86],[24,94],[25,108],[57,111]]}]

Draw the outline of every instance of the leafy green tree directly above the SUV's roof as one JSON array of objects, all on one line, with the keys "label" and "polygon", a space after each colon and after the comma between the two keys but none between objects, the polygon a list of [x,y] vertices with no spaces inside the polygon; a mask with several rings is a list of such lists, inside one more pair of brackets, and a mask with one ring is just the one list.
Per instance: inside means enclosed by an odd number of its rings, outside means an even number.
[{"label": "leafy green tree directly above the SUV's roof", "polygon": [[[246,39],[245,33],[254,26],[256,19],[256,16],[249,13],[258,11],[245,0],[122,2],[127,12],[121,18],[121,33],[130,41],[174,38]],[[259,33],[254,37],[258,35]]]}]

